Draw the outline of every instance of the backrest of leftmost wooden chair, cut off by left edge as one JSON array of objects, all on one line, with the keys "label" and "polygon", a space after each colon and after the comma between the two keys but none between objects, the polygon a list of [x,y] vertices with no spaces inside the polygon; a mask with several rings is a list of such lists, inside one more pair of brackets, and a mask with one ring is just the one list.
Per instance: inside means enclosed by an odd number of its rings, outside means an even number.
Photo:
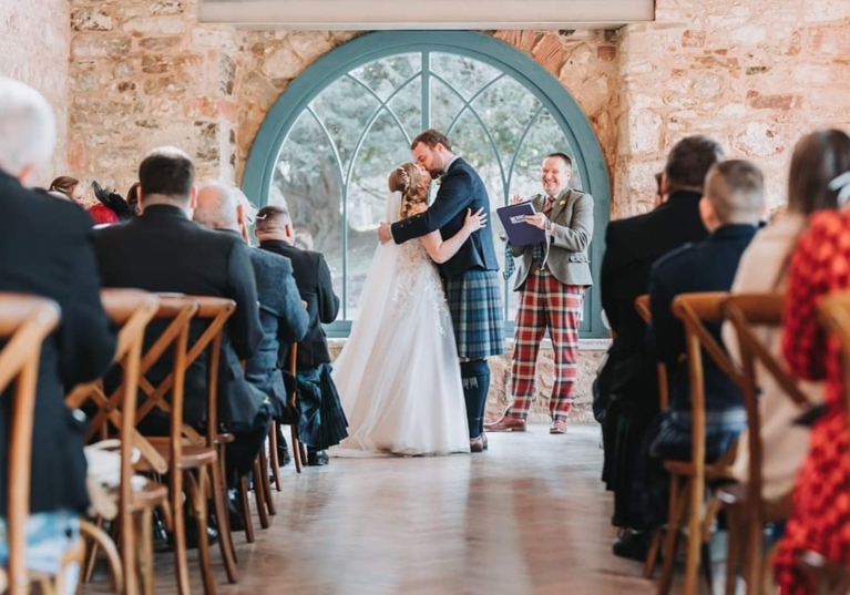
[{"label": "backrest of leftmost wooden chair, cut off by left edge", "polygon": [[29,592],[24,555],[25,523],[30,513],[35,384],[41,346],[57,327],[59,319],[59,306],[49,299],[0,294],[0,339],[6,341],[0,351],[0,394],[14,384],[13,391],[7,396],[14,400],[14,407],[10,408],[13,413],[8,437],[6,517],[9,545],[7,579],[10,595]]}]

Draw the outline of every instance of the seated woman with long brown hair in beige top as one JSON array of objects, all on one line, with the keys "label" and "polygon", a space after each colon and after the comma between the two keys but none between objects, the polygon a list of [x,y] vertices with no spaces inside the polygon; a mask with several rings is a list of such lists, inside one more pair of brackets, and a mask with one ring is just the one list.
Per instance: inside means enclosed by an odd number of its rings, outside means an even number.
[{"label": "seated woman with long brown hair in beige top", "polygon": [[[809,216],[818,211],[838,208],[837,192],[829,183],[850,171],[850,136],[838,130],[825,130],[803,136],[795,147],[788,178],[786,213],[760,230],[741,256],[731,290],[736,294],[785,293],[788,265],[797,239],[806,229]],[[781,359],[779,330],[759,330],[759,338]],[[724,327],[724,340],[733,357],[738,340],[730,325]],[[757,365],[760,399],[762,449],[762,495],[778,500],[791,491],[797,472],[809,451],[808,428],[795,424],[801,413],[772,376]],[[821,382],[805,382],[801,389],[813,402],[823,398]],[[749,478],[749,448],[745,437],[738,441],[735,459],[738,481]]]}]

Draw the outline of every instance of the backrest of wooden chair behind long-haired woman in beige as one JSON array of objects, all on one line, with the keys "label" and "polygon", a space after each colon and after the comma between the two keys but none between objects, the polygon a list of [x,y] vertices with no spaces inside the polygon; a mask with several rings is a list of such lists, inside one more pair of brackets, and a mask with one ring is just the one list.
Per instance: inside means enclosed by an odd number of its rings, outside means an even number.
[{"label": "backrest of wooden chair behind long-haired woman in beige", "polygon": [[770,352],[755,332],[757,328],[779,329],[782,325],[785,308],[784,294],[740,294],[730,296],[723,306],[724,316],[731,324],[738,337],[740,352],[741,394],[747,409],[749,481],[747,482],[747,502],[761,502],[764,484],[761,444],[761,414],[759,410],[759,381],[756,363],[761,365],[797,406],[805,408],[811,403],[799,387],[797,379],[782,362]]}]

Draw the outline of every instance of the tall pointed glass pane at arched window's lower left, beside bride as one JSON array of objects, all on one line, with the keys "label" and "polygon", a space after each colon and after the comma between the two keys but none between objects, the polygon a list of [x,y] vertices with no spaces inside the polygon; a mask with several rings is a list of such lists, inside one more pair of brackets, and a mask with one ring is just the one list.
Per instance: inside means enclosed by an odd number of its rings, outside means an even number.
[{"label": "tall pointed glass pane at arched window's lower left, beside bride", "polygon": [[[306,150],[308,147],[308,150]],[[285,206],[305,247],[325,255],[334,290],[342,295],[342,183],[334,147],[305,111],[280,147],[268,204]],[[341,312],[340,312],[341,316]]]}]

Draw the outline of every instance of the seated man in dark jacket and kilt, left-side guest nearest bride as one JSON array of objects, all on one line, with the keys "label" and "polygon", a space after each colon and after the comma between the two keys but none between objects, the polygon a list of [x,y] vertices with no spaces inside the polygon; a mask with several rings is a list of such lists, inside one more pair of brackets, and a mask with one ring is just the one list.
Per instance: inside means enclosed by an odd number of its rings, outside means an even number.
[{"label": "seated man in dark jacket and kilt, left-side guest nearest bride", "polygon": [[307,304],[310,320],[307,336],[298,343],[296,363],[301,401],[299,433],[301,442],[307,444],[308,464],[326,464],[324,450],[348,435],[348,422],[330,377],[328,341],[321,328],[321,322],[332,322],[339,312],[330,269],[321,254],[295,247],[293,220],[284,208],[260,208],[254,233],[262,249],[290,259],[295,283]]}]

